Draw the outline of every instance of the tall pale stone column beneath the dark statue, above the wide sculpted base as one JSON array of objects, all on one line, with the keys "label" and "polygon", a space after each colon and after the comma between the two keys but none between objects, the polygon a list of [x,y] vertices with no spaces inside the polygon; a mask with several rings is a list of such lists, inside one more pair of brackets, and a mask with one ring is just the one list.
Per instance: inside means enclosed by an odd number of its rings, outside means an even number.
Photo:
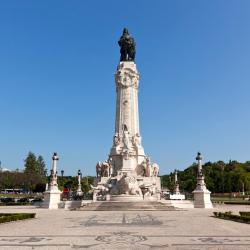
[{"label": "tall pale stone column beneath the dark statue, above the wide sculpted base", "polygon": [[115,74],[116,118],[114,143],[110,151],[114,174],[132,173],[145,159],[141,145],[138,112],[139,73],[132,61],[120,62]]}]

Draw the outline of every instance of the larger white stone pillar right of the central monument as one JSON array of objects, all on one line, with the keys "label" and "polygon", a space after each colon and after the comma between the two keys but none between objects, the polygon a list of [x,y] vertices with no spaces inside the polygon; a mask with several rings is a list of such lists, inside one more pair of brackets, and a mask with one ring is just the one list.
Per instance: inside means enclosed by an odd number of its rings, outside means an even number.
[{"label": "larger white stone pillar right of the central monument", "polygon": [[198,152],[196,160],[198,161],[198,171],[197,171],[197,184],[196,189],[193,191],[194,194],[194,207],[195,208],[213,208],[210,191],[206,188],[205,177],[202,171],[202,156]]}]

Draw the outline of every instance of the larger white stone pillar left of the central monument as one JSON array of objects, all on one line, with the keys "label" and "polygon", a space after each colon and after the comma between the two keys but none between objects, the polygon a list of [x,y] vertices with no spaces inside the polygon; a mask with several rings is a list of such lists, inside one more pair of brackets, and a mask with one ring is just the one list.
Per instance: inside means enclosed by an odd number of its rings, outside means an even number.
[{"label": "larger white stone pillar left of the central monument", "polygon": [[42,207],[49,209],[58,209],[60,203],[61,191],[58,189],[57,185],[57,171],[56,165],[59,157],[57,153],[53,154],[52,157],[52,169],[50,174],[50,182],[47,190],[44,192],[44,203]]}]

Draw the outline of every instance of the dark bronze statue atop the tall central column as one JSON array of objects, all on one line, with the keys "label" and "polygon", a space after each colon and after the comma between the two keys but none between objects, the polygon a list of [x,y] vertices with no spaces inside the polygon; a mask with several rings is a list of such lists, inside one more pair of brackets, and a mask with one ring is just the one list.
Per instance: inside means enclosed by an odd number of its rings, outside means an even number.
[{"label": "dark bronze statue atop the tall central column", "polygon": [[118,41],[120,46],[120,62],[122,61],[134,61],[135,60],[135,41],[132,36],[128,33],[128,29],[123,29],[123,34]]}]

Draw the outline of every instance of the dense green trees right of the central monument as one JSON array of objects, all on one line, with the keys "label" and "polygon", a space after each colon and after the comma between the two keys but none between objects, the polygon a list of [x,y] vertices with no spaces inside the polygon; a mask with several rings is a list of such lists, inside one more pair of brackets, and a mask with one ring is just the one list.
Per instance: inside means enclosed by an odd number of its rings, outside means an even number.
[{"label": "dense green trees right of the central monument", "polygon": [[[240,163],[230,160],[207,162],[203,165],[207,188],[213,193],[250,191],[250,161]],[[184,171],[178,172],[180,188],[192,192],[196,187],[197,164],[193,163]],[[170,190],[174,186],[173,173],[162,176],[162,185]]]}]

